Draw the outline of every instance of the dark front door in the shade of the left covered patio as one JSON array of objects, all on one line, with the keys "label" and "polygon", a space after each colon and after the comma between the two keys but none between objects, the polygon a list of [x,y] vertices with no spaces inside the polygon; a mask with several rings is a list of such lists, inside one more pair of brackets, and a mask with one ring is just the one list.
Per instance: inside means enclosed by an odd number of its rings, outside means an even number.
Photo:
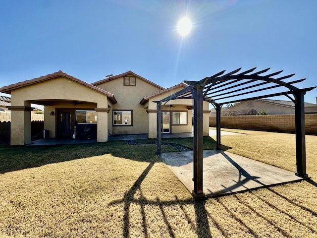
[{"label": "dark front door in the shade of the left covered patio", "polygon": [[59,110],[57,117],[58,137],[72,137],[75,124],[74,111]]}]

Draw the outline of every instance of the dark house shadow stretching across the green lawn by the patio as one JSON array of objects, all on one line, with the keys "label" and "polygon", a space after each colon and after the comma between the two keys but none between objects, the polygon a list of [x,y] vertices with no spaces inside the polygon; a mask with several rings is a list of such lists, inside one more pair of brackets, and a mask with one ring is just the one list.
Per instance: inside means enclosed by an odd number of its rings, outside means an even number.
[{"label": "dark house shadow stretching across the green lawn by the patio", "polygon": [[[175,138],[166,140],[166,143],[191,149],[192,141],[192,138]],[[213,147],[215,147],[214,140],[211,137],[204,137],[204,149]],[[164,152],[179,151],[177,148],[164,145],[162,150]],[[156,140],[143,140],[140,145],[131,145],[124,141],[32,147],[2,144],[0,145],[0,174],[105,154],[135,161],[152,162],[160,160],[156,152]]]}]

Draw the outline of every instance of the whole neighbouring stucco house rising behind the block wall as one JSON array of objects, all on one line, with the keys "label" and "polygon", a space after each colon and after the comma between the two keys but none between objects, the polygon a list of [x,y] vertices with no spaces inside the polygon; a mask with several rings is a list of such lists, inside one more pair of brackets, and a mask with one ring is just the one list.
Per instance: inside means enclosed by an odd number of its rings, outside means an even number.
[{"label": "whole neighbouring stucco house rising behind the block wall", "polygon": [[[317,113],[317,104],[304,103],[305,113]],[[231,107],[221,108],[221,116],[257,115],[264,111],[270,115],[295,114],[295,104],[292,101],[256,99],[237,103]],[[215,110],[211,110],[215,117]]]}]

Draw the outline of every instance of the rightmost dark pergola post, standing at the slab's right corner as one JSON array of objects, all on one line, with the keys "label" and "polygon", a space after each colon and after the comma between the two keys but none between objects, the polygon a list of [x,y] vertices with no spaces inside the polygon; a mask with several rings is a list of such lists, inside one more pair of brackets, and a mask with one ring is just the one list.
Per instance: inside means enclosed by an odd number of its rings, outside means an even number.
[{"label": "rightmost dark pergola post, standing at the slab's right corner", "polygon": [[303,91],[296,91],[295,98],[295,134],[296,134],[296,173],[295,175],[308,178],[306,174],[306,143],[305,143],[305,108]]}]

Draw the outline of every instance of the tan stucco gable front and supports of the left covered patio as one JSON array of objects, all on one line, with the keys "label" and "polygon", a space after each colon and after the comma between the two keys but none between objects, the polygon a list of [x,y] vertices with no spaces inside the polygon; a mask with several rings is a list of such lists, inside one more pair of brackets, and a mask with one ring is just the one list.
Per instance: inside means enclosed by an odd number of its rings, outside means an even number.
[{"label": "tan stucco gable front and supports of the left covered patio", "polygon": [[[11,106],[28,106],[30,102],[41,100],[52,100],[50,102],[52,106],[46,106],[44,113],[44,128],[50,131],[50,137],[56,136],[56,108],[94,109],[108,107],[108,99],[105,94],[64,77],[53,78],[11,91]],[[74,101],[81,103],[75,105],[72,103]],[[52,111],[54,116],[50,115]],[[30,112],[26,113],[30,114]],[[27,123],[28,118],[24,117],[23,119],[20,114],[11,112],[11,145],[23,144],[21,142],[22,138],[24,138],[24,143],[31,141],[31,130],[28,129],[30,123]],[[24,130],[21,130],[22,121],[25,121]],[[100,142],[104,142],[108,135],[107,117],[101,116],[98,123],[100,123],[100,126],[98,126],[97,141],[100,139]]]}]

